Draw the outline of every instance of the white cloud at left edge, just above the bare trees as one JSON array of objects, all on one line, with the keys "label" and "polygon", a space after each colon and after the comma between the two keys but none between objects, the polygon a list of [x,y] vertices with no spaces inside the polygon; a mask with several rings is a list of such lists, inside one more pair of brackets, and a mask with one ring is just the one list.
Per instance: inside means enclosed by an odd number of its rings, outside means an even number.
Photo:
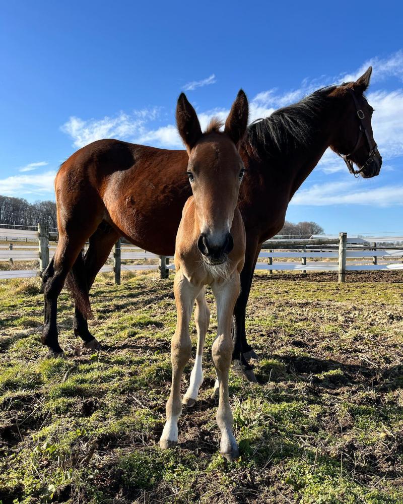
[{"label": "white cloud at left edge, just above the bare trees", "polygon": [[54,195],[54,170],[45,173],[13,175],[11,177],[0,179],[2,195],[21,197],[21,195],[33,195],[44,197],[45,195]]}]

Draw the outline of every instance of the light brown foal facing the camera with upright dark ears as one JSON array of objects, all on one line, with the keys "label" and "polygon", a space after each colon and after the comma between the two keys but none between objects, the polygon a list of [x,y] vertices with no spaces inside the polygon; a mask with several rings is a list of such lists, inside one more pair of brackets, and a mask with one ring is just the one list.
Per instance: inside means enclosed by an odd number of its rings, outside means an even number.
[{"label": "light brown foal facing the camera with upright dark ears", "polygon": [[185,203],[176,235],[174,294],[177,323],[171,342],[172,388],[160,445],[161,448],[169,448],[178,440],[178,419],[182,412],[180,382],[190,358],[189,321],[195,301],[196,366],[183,404],[194,404],[203,381],[201,355],[210,316],[205,291],[206,285],[210,285],[217,301],[218,331],[212,356],[219,386],[217,424],[221,431],[220,452],[230,461],[239,455],[232,433],[228,371],[233,349],[233,311],[240,292],[240,272],[245,256],[245,228],[237,201],[245,171],[238,147],[246,133],[247,121],[248,102],[245,93],[240,90],[225,123],[224,133],[219,131],[219,121],[213,119],[203,134],[193,107],[183,93],[179,96],[176,122],[189,155],[187,175],[193,196]]}]

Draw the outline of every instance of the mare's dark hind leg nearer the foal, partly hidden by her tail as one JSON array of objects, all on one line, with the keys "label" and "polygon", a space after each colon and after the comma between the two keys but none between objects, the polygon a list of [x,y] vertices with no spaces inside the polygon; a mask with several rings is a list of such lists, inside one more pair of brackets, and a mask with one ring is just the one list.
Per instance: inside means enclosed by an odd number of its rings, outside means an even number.
[{"label": "mare's dark hind leg nearer the foal, partly hidden by her tail", "polygon": [[[83,264],[87,293],[90,291],[95,277],[108,259],[110,251],[118,238],[118,233],[109,225],[104,226],[103,223],[90,236],[90,246],[84,257]],[[87,318],[80,311],[77,303],[74,312],[73,328],[74,334],[80,336],[86,348],[100,348],[100,344],[90,333]]]}]

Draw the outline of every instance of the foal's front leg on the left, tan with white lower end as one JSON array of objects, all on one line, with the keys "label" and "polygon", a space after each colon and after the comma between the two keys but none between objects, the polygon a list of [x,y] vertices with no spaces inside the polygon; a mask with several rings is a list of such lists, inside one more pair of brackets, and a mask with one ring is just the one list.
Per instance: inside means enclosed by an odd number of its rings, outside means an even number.
[{"label": "foal's front leg on the left, tan with white lower end", "polygon": [[176,273],[174,294],[177,321],[175,334],[171,341],[172,387],[166,406],[167,421],[160,439],[161,448],[171,448],[178,442],[178,419],[182,413],[180,382],[183,369],[190,359],[192,344],[189,337],[189,322],[194,300],[199,290],[199,287],[196,288],[190,284],[180,270]]}]

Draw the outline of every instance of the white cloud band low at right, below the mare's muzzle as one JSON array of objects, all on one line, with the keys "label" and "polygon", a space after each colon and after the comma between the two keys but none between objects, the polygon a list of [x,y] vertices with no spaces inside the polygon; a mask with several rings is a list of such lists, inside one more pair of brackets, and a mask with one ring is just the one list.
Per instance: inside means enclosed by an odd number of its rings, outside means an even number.
[{"label": "white cloud band low at right, below the mare's muzzle", "polygon": [[351,182],[327,182],[300,189],[290,205],[371,205],[390,207],[403,205],[403,185],[358,187]]}]

